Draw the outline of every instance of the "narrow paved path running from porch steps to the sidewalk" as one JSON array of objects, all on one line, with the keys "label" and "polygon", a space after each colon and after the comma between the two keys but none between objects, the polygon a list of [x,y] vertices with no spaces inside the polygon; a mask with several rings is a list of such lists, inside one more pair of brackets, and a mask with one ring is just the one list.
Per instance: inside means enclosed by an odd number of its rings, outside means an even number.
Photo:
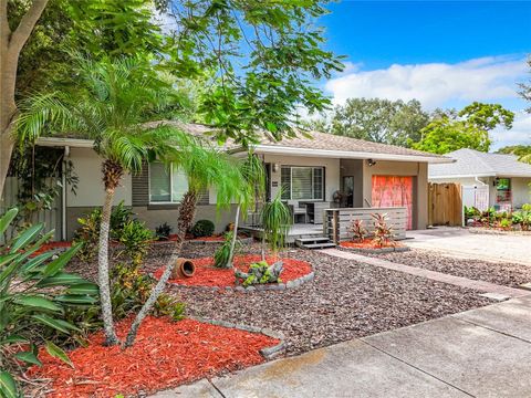
[{"label": "narrow paved path running from porch steps to the sidewalk", "polygon": [[354,260],[368,265],[385,268],[387,270],[405,272],[410,275],[423,276],[437,282],[449,283],[449,284],[460,286],[460,287],[466,287],[466,289],[472,289],[478,292],[481,292],[482,293],[481,295],[493,298],[493,300],[502,301],[507,298],[514,298],[514,297],[520,297],[520,296],[530,294],[529,291],[525,291],[522,289],[513,289],[513,287],[497,285],[497,284],[485,282],[485,281],[476,281],[476,280],[470,280],[468,277],[449,275],[442,272],[425,270],[421,268],[410,266],[405,264],[398,264],[388,260],[369,258],[366,255],[361,255],[361,254],[347,252],[344,250],[324,249],[324,250],[320,250],[320,252],[323,254],[327,254],[327,255],[332,255],[341,259]]}]

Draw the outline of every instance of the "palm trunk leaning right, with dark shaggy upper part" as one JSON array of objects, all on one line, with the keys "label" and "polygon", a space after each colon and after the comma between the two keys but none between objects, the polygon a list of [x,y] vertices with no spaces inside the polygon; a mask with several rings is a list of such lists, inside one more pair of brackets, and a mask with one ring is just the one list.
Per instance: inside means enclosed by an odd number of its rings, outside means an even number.
[{"label": "palm trunk leaning right, with dark shaggy upper part", "polygon": [[142,324],[142,321],[149,314],[153,306],[158,300],[160,293],[163,293],[164,289],[166,287],[166,283],[171,275],[171,271],[174,270],[175,263],[180,254],[183,249],[183,243],[185,241],[186,231],[191,227],[191,222],[194,221],[194,217],[196,216],[196,207],[197,207],[197,192],[188,191],[186,192],[183,201],[180,202],[179,208],[179,221],[177,224],[177,242],[175,243],[174,251],[171,252],[171,256],[166,265],[166,270],[164,270],[163,275],[158,280],[157,284],[152,291],[152,294],[147,298],[147,301],[142,306],[142,310],[135,317],[135,321],[131,325],[129,333],[127,334],[127,338],[125,339],[125,347],[131,347],[135,343],[136,334],[138,333],[138,327]]}]

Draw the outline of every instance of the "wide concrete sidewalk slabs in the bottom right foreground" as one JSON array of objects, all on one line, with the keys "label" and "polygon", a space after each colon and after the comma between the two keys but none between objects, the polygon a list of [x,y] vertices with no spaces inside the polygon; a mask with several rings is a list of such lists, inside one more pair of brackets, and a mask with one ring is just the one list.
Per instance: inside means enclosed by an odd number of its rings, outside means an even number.
[{"label": "wide concrete sidewalk slabs in the bottom right foreground", "polygon": [[514,298],[155,397],[531,397],[530,320]]}]

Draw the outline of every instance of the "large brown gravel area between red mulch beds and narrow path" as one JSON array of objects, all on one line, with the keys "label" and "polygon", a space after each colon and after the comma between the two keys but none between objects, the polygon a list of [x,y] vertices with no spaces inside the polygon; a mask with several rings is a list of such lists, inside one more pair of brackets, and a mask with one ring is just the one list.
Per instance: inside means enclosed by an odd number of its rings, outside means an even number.
[{"label": "large brown gravel area between red mulch beds and narrow path", "polygon": [[[202,258],[215,250],[187,244],[183,255]],[[154,245],[146,272],[164,265],[170,252],[170,243]],[[246,245],[242,253],[258,252],[258,245]],[[310,262],[314,281],[293,290],[253,293],[168,290],[187,304],[189,315],[283,333],[289,355],[492,303],[475,291],[314,251],[289,250],[282,256]],[[74,262],[71,268],[95,277],[95,264]]]}]

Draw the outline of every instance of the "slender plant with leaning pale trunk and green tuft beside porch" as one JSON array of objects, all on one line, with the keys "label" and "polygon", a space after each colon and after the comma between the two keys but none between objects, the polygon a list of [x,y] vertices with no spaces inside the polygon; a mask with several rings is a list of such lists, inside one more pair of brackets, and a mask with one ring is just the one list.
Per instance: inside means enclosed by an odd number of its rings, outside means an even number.
[{"label": "slender plant with leaning pale trunk and green tuft beside porch", "polygon": [[266,193],[266,171],[262,161],[251,151],[247,159],[240,165],[240,172],[244,182],[243,189],[239,191],[238,206],[236,208],[235,228],[232,231],[232,242],[230,244],[229,259],[227,268],[232,268],[235,258],[236,240],[238,239],[238,222],[240,211],[246,212],[248,207],[257,201],[263,200]]}]

